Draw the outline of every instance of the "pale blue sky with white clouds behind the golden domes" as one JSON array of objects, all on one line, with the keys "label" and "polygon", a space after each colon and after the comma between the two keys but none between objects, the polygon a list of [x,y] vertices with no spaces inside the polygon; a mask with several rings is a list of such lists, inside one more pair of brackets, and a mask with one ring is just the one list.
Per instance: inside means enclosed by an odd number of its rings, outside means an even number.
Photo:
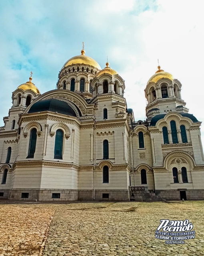
[{"label": "pale blue sky with white clouds behind the golden domes", "polygon": [[[144,88],[157,70],[182,83],[189,113],[204,121],[204,15],[200,0],[0,1],[0,126],[12,91],[28,81],[56,88],[63,64],[82,49],[125,80],[128,108],[145,119]],[[204,124],[202,127],[204,138]]]}]

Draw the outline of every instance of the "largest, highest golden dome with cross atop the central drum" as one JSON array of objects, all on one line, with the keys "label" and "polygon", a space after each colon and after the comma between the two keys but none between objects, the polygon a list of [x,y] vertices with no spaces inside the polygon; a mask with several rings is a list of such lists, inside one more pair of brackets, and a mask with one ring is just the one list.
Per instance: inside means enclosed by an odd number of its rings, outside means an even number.
[{"label": "largest, highest golden dome with cross atop the central drum", "polygon": [[77,55],[77,56],[72,57],[71,59],[68,59],[68,61],[62,67],[62,69],[64,67],[68,67],[69,65],[72,65],[72,64],[85,64],[85,65],[90,65],[90,66],[96,67],[99,70],[101,69],[98,62],[96,62],[91,57],[88,57],[85,55],[84,49],[81,51],[81,53],[82,53],[81,55]]}]

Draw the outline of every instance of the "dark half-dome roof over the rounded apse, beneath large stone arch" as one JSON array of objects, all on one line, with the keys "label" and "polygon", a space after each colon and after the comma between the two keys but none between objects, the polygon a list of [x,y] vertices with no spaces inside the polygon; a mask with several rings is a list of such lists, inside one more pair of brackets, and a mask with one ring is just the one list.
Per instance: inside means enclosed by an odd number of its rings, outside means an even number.
[{"label": "dark half-dome roof over the rounded apse, beneath large stone arch", "polygon": [[28,113],[42,111],[58,112],[60,114],[76,116],[76,113],[72,107],[70,107],[66,102],[56,99],[40,100],[39,102],[36,102],[32,105]]}]

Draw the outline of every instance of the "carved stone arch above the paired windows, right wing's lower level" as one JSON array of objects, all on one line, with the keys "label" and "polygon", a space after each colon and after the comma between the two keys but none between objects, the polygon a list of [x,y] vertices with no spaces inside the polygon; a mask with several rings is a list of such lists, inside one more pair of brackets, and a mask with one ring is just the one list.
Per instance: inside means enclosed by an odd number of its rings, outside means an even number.
[{"label": "carved stone arch above the paired windows, right wing's lower level", "polygon": [[190,167],[190,169],[194,169],[195,161],[188,153],[183,151],[174,151],[171,152],[166,156],[164,159],[164,167],[166,170],[170,170],[172,165],[175,167],[179,166],[180,164],[184,165],[185,167]]}]

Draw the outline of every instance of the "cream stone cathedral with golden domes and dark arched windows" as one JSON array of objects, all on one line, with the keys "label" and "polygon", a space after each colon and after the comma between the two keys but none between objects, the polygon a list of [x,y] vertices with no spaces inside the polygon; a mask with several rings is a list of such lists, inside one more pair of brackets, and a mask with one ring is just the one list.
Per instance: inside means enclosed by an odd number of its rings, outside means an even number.
[{"label": "cream stone cathedral with golden domes and dark arched windows", "polygon": [[201,122],[170,73],[158,66],[147,81],[142,121],[118,72],[84,49],[57,89],[41,94],[31,73],[0,127],[0,199],[203,200]]}]

